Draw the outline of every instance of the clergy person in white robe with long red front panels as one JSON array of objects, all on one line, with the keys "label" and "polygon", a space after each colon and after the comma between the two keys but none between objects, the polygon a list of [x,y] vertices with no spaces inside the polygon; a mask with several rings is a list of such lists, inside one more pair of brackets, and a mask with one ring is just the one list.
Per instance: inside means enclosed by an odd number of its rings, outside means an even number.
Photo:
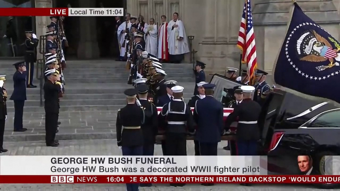
[{"label": "clergy person in white robe with long red front panels", "polygon": [[158,59],[164,62],[169,60],[167,16],[162,15],[161,19],[162,24],[158,29]]}]

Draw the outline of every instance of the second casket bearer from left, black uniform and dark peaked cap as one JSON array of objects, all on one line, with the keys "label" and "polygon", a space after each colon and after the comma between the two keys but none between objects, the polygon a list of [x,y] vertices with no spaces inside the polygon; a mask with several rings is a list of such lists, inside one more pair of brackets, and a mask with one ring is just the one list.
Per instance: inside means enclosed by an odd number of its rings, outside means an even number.
[{"label": "second casket bearer from left, black uniform and dark peaked cap", "polygon": [[143,155],[154,155],[155,136],[158,133],[158,111],[157,107],[148,100],[148,86],[137,87],[139,101],[144,108],[145,122],[142,125],[144,136]]}]

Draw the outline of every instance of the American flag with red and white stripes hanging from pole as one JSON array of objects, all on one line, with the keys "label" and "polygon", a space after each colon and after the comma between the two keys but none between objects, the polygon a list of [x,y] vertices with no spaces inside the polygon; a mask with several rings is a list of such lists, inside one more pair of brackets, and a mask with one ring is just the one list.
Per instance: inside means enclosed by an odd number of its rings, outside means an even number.
[{"label": "American flag with red and white stripes hanging from pole", "polygon": [[242,63],[247,64],[248,76],[250,82],[253,82],[255,70],[257,68],[257,58],[250,0],[246,0],[244,3],[241,26],[238,32],[237,47],[242,51]]}]

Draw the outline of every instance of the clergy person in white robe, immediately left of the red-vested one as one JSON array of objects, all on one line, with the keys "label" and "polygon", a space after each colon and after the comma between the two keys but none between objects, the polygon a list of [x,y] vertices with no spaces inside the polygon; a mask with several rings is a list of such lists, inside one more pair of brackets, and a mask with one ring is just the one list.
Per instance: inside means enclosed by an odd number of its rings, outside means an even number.
[{"label": "clergy person in white robe, immediately left of the red-vested one", "polygon": [[155,19],[150,19],[150,25],[146,29],[146,39],[145,39],[145,51],[156,56],[157,58],[157,25],[155,25]]}]

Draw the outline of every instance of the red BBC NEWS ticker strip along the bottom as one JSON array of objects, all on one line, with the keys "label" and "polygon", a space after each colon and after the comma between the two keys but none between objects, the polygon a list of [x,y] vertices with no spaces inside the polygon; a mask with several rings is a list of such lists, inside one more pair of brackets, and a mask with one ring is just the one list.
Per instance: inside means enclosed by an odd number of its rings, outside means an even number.
[{"label": "red BBC NEWS ticker strip along the bottom", "polygon": [[0,184],[126,184],[126,183],[215,183],[215,184],[339,184],[339,175],[238,175],[238,176],[6,176],[0,175]]}]

